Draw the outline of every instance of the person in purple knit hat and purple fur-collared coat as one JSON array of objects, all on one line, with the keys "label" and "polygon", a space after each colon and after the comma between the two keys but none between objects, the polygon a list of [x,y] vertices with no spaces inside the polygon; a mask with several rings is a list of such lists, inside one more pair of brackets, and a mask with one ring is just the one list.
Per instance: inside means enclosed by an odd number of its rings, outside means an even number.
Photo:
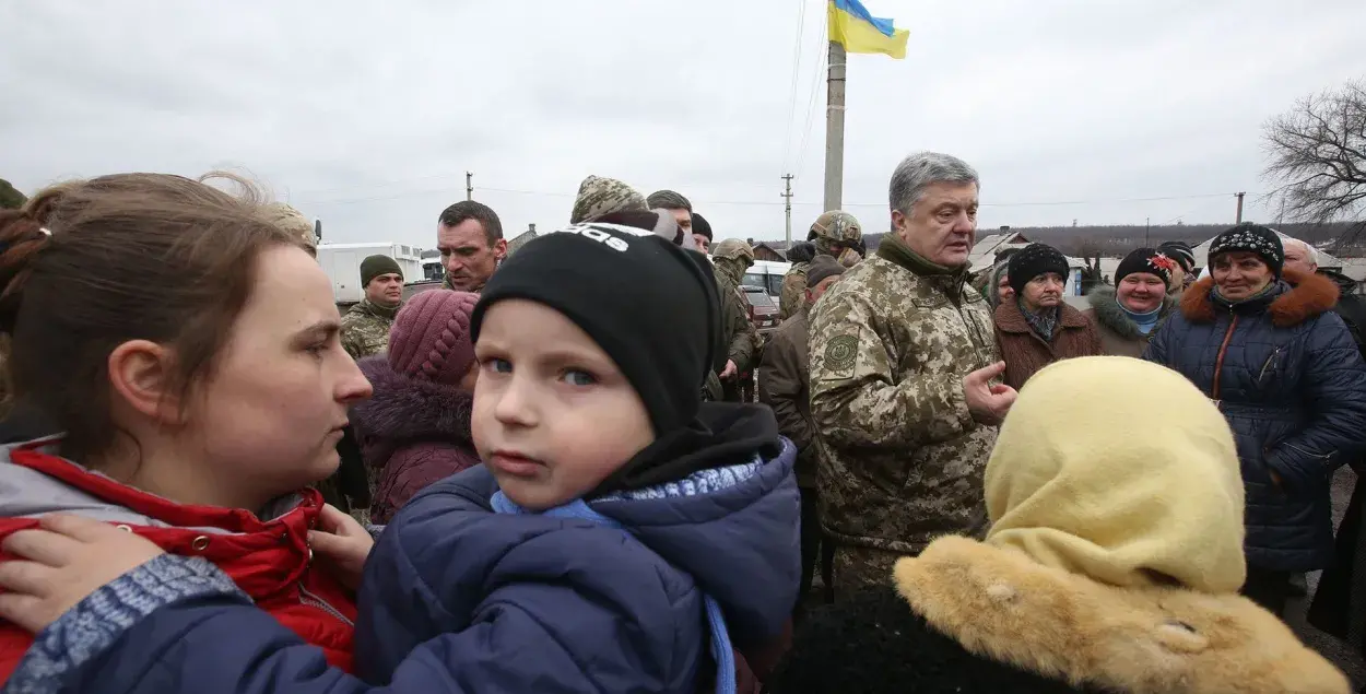
[{"label": "person in purple knit hat and purple fur-collared coat", "polygon": [[361,359],[374,395],[351,408],[373,482],[370,522],[384,525],[428,485],[479,463],[470,434],[478,295],[429,290],[399,311],[385,354]]}]

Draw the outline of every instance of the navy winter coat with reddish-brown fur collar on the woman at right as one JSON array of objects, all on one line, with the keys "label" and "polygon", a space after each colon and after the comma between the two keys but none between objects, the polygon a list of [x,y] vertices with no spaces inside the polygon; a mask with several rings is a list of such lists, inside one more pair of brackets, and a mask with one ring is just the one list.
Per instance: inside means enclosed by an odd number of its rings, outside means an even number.
[{"label": "navy winter coat with reddish-brown fur collar on the woman at right", "polygon": [[1310,571],[1332,560],[1332,473],[1366,447],[1366,365],[1330,311],[1337,287],[1317,275],[1287,279],[1296,286],[1280,281],[1235,306],[1201,280],[1143,358],[1184,374],[1228,419],[1246,485],[1247,563]]}]

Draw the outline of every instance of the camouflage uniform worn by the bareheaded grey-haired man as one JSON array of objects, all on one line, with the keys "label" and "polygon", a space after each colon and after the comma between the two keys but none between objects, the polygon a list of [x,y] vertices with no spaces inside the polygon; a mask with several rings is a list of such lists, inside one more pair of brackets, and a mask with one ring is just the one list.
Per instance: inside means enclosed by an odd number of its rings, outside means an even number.
[{"label": "camouflage uniform worn by the bareheaded grey-haired man", "polygon": [[841,552],[915,555],[937,536],[982,531],[996,428],[968,413],[963,377],[999,357],[992,314],[966,268],[932,265],[888,235],[810,320],[826,534]]}]

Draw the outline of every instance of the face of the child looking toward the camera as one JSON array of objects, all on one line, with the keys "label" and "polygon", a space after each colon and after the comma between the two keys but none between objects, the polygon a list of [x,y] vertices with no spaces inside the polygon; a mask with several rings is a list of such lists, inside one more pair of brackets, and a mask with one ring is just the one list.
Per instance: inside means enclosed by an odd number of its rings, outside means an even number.
[{"label": "face of the child looking toward the camera", "polygon": [[635,388],[560,311],[525,299],[488,309],[474,346],[474,445],[516,504],[582,497],[654,440]]}]

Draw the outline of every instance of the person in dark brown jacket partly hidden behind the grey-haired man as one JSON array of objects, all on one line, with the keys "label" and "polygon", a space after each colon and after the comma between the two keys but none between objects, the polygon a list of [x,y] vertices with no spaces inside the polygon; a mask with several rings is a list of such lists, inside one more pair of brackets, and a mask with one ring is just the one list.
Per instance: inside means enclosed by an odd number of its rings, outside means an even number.
[{"label": "person in dark brown jacket partly hidden behind the grey-haired man", "polygon": [[[759,402],[773,408],[779,432],[796,444],[796,484],[802,490],[802,585],[798,594],[802,597],[811,589],[816,557],[821,549],[806,311],[839,281],[840,275],[844,275],[844,266],[829,255],[817,255],[807,265],[806,301],[773,333],[759,363]],[[798,611],[800,607],[798,600]]]}]

